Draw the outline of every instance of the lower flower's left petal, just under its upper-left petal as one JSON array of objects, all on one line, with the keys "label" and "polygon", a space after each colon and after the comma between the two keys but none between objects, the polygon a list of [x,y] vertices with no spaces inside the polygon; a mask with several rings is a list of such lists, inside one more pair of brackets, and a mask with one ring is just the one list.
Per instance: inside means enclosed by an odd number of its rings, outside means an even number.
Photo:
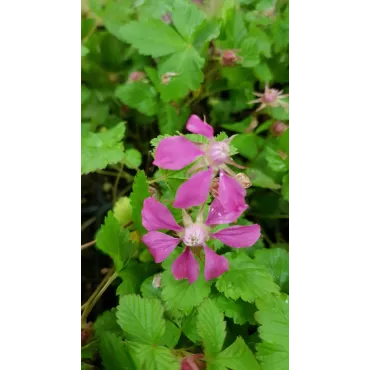
[{"label": "lower flower's left petal, just under its upper-left petal", "polygon": [[143,236],[142,241],[148,246],[156,263],[163,262],[180,243],[179,238],[173,238],[159,231],[148,232]]}]

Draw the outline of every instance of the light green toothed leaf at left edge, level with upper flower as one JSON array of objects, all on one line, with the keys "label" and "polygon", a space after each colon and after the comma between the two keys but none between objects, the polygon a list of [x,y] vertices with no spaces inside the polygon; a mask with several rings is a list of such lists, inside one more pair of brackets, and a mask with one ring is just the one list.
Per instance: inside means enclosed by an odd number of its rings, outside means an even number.
[{"label": "light green toothed leaf at left edge, level with upper flower", "polygon": [[123,160],[122,138],[125,124],[119,123],[108,131],[87,132],[80,138],[80,174],[103,169]]}]

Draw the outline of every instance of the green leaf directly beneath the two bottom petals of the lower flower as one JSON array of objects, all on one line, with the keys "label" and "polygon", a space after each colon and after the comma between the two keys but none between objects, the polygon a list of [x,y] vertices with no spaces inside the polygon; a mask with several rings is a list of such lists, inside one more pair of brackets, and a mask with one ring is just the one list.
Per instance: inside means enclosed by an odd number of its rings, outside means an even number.
[{"label": "green leaf directly beneath the two bottom petals of the lower flower", "polygon": [[203,274],[193,284],[187,280],[175,280],[171,271],[162,274],[162,299],[169,310],[187,311],[198,306],[208,297],[211,288],[204,280]]}]

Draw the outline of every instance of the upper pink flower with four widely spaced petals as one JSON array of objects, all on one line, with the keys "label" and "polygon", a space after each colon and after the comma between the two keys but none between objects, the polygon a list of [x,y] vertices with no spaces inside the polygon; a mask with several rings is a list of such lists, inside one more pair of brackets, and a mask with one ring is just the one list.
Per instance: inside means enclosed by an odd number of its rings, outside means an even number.
[{"label": "upper pink flower with four widely spaced petals", "polygon": [[153,162],[160,168],[180,170],[199,159],[189,172],[200,171],[179,187],[173,206],[190,208],[204,203],[210,192],[212,179],[219,172],[219,200],[226,210],[238,212],[245,207],[246,191],[237,181],[236,174],[227,166],[231,164],[244,168],[230,158],[229,143],[235,136],[216,141],[213,127],[194,114],[190,116],[186,128],[208,138],[208,143],[197,144],[184,136],[165,138],[158,144]]}]

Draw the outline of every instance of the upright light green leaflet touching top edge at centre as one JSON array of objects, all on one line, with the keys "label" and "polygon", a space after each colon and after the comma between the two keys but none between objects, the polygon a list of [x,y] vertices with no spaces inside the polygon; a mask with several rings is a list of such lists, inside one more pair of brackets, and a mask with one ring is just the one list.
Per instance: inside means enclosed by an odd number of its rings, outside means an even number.
[{"label": "upright light green leaflet touching top edge at centre", "polygon": [[180,35],[187,41],[192,42],[193,35],[198,26],[205,19],[205,14],[194,4],[182,0],[175,0],[172,21]]}]

